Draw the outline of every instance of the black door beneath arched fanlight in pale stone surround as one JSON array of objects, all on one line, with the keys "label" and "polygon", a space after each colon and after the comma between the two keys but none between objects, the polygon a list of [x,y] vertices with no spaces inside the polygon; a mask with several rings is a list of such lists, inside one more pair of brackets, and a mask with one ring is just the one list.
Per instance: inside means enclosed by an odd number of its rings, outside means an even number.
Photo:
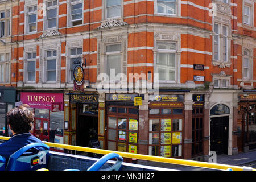
[{"label": "black door beneath arched fanlight in pale stone surround", "polygon": [[229,117],[210,119],[210,151],[228,154]]}]

